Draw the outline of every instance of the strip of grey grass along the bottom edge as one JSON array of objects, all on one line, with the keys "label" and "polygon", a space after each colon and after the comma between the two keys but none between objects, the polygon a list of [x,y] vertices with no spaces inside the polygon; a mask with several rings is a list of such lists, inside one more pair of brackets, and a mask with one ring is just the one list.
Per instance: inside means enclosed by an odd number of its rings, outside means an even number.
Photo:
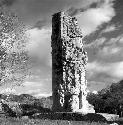
[{"label": "strip of grey grass along the bottom edge", "polygon": [[0,125],[109,125],[99,122],[67,121],[67,120],[39,120],[28,118],[4,118],[0,117]]}]

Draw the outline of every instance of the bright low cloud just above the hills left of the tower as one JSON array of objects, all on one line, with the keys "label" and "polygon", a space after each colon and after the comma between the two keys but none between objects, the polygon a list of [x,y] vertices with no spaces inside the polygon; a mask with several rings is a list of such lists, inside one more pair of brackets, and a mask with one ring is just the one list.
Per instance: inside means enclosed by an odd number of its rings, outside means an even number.
[{"label": "bright low cloud just above the hills left of the tower", "polygon": [[[41,74],[39,74],[41,75]],[[49,94],[51,92],[51,77],[46,76],[40,79],[27,80],[23,83],[23,86],[16,87],[15,90],[17,94],[30,94],[30,95],[39,95],[42,93]]]}]

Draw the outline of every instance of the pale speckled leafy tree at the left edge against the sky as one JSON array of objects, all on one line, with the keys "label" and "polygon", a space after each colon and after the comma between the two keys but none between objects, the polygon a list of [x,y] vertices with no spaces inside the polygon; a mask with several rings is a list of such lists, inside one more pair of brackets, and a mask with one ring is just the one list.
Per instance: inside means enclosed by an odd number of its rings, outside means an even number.
[{"label": "pale speckled leafy tree at the left edge against the sky", "polygon": [[28,74],[26,28],[11,12],[0,12],[0,85],[21,85]]}]

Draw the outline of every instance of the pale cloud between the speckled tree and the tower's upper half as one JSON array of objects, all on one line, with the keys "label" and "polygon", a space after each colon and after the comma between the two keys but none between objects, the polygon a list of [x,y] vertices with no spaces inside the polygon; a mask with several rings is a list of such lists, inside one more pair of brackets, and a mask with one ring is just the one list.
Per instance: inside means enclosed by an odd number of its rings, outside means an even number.
[{"label": "pale cloud between the speckled tree and the tower's upper half", "polygon": [[27,31],[27,49],[36,64],[51,66],[51,30],[33,28]]}]

